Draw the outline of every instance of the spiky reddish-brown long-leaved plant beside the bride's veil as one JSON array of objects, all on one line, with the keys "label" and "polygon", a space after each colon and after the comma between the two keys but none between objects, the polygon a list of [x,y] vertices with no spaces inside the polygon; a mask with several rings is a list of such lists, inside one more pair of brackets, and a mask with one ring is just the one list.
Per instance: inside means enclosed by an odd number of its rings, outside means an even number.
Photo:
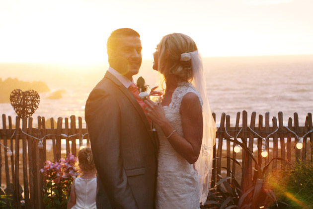
[{"label": "spiky reddish-brown long-leaved plant beside the bride's veil", "polygon": [[[255,170],[251,183],[246,187],[242,187],[241,185],[247,184],[247,179],[242,179],[241,183],[235,179],[235,175],[231,171],[232,177],[225,177],[216,184],[214,188],[211,189],[211,194],[208,197],[208,200],[203,207],[204,209],[266,209],[271,207],[273,204],[278,207],[278,201],[276,196],[270,187],[267,184],[266,179],[268,178],[268,168],[269,165],[274,160],[283,160],[281,158],[273,158],[270,162],[268,162],[263,168],[259,167],[257,164],[257,160],[254,157],[253,153],[248,149],[246,142],[238,142],[245,151],[245,153],[255,162]],[[241,172],[244,172],[244,168],[241,164],[234,158],[230,158],[233,163],[237,164]],[[227,169],[227,168],[225,168]]]}]

